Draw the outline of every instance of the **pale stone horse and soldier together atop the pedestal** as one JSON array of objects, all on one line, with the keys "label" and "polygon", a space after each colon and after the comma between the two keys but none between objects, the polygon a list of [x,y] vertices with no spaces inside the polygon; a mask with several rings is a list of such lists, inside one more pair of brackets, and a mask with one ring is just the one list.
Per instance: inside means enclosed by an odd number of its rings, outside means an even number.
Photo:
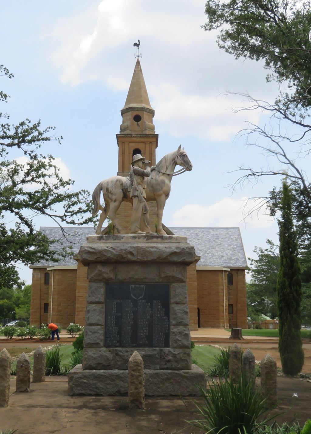
[{"label": "pale stone horse and soldier together atop the pedestal", "polygon": [[[96,234],[102,234],[102,226],[106,217],[109,217],[117,232],[121,232],[116,212],[122,201],[133,204],[131,232],[152,233],[149,227],[149,208],[146,202],[156,201],[157,204],[157,230],[159,235],[166,235],[162,228],[162,216],[165,201],[171,191],[172,177],[192,170],[188,155],[179,148],[169,152],[152,168],[150,161],[141,155],[134,155],[129,177],[112,176],[101,181],[93,191],[93,216],[101,210]],[[176,166],[182,169],[175,171]],[[105,205],[101,206],[100,196],[103,192]],[[142,231],[139,228],[140,217],[143,215]]]}]

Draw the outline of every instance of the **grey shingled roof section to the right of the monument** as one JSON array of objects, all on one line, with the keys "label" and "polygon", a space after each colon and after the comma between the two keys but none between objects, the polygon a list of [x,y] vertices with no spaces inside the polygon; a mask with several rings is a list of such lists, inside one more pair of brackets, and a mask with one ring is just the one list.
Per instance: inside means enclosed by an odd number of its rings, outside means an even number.
[{"label": "grey shingled roof section to the right of the monument", "polygon": [[238,227],[170,227],[175,235],[185,235],[201,256],[200,266],[247,267]]}]

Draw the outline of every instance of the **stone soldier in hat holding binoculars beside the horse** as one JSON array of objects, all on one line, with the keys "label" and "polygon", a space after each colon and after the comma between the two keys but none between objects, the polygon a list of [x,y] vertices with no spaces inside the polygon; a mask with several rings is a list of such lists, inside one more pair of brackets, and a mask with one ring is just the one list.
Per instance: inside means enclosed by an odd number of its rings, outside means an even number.
[{"label": "stone soldier in hat holding binoculars beside the horse", "polygon": [[[131,217],[131,233],[152,233],[149,227],[149,207],[146,202],[146,182],[145,177],[150,176],[150,161],[146,161],[145,157],[136,154],[133,157],[132,168],[129,172],[129,180],[131,181],[131,198],[133,201],[132,217]],[[145,232],[139,229],[140,218],[144,216]]]}]

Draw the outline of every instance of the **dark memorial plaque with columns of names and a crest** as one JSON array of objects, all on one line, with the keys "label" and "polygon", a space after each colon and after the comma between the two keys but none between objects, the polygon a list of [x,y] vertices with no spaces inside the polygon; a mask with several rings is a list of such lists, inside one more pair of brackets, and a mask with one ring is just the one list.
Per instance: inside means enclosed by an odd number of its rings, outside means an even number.
[{"label": "dark memorial plaque with columns of names and a crest", "polygon": [[106,283],[106,347],[169,347],[169,285]]}]

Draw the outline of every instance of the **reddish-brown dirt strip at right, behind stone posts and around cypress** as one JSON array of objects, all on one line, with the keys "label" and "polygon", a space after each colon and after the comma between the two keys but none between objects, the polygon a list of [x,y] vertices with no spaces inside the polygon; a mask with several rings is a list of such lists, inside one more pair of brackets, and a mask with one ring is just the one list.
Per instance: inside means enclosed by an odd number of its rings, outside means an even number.
[{"label": "reddish-brown dirt strip at right, behind stone posts and around cypress", "polygon": [[[199,344],[199,342],[198,342]],[[222,347],[228,347],[232,345],[232,343],[228,342],[219,342],[218,344],[215,342],[215,345],[220,345]],[[275,359],[278,368],[281,368],[281,359],[280,354],[278,352],[278,341],[273,343],[243,343],[243,341],[237,342],[237,345],[241,345],[244,349],[250,349],[255,355],[255,359],[259,362],[265,357],[267,353],[270,353],[271,356]],[[311,342],[303,342],[302,348],[304,350],[304,366],[302,368],[302,372],[304,374],[311,374]],[[311,404],[310,404],[311,405]]]}]

